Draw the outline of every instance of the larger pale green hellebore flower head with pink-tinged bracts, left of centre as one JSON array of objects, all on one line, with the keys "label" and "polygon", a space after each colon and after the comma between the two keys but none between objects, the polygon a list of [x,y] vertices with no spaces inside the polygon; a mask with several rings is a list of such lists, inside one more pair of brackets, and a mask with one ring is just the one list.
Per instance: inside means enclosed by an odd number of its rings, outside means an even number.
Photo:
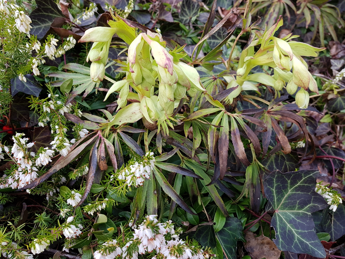
[{"label": "larger pale green hellebore flower head with pink-tinged bracts, left of centre", "polygon": [[[111,86],[105,100],[110,94],[119,92],[117,109],[124,108],[131,86],[138,93],[146,125],[149,127],[150,124],[157,124],[158,128],[162,126],[164,132],[168,132],[168,125],[173,128],[169,119],[175,120],[171,116],[174,108],[178,106],[180,99],[188,99],[186,92],[194,97],[197,91],[206,91],[200,82],[200,76],[194,67],[180,62],[180,58],[187,55],[181,52],[183,47],[168,51],[160,34],[147,31],[135,36],[133,28],[121,19],[115,19],[116,22],[109,21],[111,28],[88,29],[80,39],[80,42],[94,42],[87,57],[87,61],[92,61],[91,79],[97,83],[103,80],[110,41],[114,33],[117,33],[129,44],[128,62],[120,63],[126,77]],[[155,95],[155,87],[158,87],[158,96]]]}]

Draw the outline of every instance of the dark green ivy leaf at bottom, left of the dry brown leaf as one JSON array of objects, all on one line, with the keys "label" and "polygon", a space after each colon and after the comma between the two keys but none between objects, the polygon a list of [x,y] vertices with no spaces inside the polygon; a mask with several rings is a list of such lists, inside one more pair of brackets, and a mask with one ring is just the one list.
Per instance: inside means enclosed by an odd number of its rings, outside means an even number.
[{"label": "dark green ivy leaf at bottom, left of the dry brown leaf", "polygon": [[236,259],[237,241],[244,241],[242,223],[239,219],[226,218],[224,227],[216,233],[228,259]]}]

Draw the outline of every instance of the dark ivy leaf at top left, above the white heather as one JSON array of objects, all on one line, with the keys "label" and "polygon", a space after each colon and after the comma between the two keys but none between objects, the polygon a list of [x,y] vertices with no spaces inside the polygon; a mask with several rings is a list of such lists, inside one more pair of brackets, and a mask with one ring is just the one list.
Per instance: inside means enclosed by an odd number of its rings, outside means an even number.
[{"label": "dark ivy leaf at top left, above the white heather", "polygon": [[46,35],[55,18],[64,18],[64,16],[53,0],[37,0],[36,4],[37,8],[30,15],[32,21],[30,33],[40,40]]}]

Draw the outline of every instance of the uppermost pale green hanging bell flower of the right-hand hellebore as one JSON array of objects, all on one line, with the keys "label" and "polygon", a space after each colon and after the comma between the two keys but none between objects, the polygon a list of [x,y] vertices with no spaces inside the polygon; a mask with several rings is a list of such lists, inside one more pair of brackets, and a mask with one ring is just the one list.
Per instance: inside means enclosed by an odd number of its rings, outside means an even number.
[{"label": "uppermost pale green hanging bell flower of the right-hand hellebore", "polygon": [[287,72],[292,68],[293,52],[290,45],[282,39],[274,37],[273,61],[277,67]]}]

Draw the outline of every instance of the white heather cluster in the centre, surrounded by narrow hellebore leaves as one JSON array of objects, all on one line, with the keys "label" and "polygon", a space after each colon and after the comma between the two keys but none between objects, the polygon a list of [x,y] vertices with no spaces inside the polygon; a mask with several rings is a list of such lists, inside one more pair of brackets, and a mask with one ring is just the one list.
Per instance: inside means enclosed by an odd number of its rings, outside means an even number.
[{"label": "white heather cluster in the centre, surrounded by narrow hellebore leaves", "polygon": [[122,170],[118,175],[118,179],[126,180],[128,186],[140,186],[144,183],[145,179],[150,179],[154,162],[154,153],[147,152],[145,156],[142,157],[141,161],[135,161],[134,164]]}]

